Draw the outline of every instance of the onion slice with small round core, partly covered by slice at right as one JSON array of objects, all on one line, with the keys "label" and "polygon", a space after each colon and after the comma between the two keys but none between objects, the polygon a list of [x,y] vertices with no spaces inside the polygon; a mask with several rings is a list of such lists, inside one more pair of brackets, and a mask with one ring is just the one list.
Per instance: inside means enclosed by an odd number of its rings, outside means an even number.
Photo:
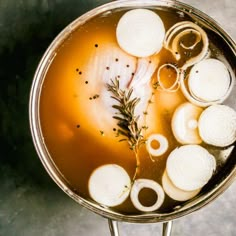
[{"label": "onion slice with small round core, partly covered by slice at right", "polygon": [[200,144],[202,139],[198,132],[198,119],[203,109],[192,103],[181,104],[175,110],[171,127],[177,141],[181,144]]}]

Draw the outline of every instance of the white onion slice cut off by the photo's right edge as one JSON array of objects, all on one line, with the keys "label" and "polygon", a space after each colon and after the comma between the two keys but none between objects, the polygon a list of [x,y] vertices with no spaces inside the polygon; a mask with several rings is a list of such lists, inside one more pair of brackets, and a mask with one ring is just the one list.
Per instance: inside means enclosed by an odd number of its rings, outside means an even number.
[{"label": "white onion slice cut off by the photo's right edge", "polygon": [[236,140],[236,112],[226,105],[212,105],[200,116],[199,133],[204,142],[226,147]]}]

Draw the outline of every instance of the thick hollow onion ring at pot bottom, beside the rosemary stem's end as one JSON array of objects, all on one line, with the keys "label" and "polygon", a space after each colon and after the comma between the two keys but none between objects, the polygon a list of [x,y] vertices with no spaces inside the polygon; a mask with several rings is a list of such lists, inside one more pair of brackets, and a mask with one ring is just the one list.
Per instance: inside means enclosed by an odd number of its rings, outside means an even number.
[{"label": "thick hollow onion ring at pot bottom, beside the rosemary stem's end", "polygon": [[[157,200],[152,206],[143,206],[139,201],[139,192],[143,188],[150,188],[157,194]],[[162,203],[164,202],[165,193],[160,184],[155,182],[154,180],[150,179],[137,179],[134,181],[130,192],[130,198],[133,205],[140,211],[143,212],[150,212],[155,211],[161,207]]]}]

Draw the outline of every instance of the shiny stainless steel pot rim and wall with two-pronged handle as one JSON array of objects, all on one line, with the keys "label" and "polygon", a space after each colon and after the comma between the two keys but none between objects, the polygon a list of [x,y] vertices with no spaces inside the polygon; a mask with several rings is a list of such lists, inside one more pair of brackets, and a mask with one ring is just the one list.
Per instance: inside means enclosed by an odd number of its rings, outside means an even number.
[{"label": "shiny stainless steel pot rim and wall with two-pronged handle", "polygon": [[[53,163],[53,160],[50,157],[47,147],[44,143],[43,134],[41,132],[40,119],[39,119],[39,104],[40,104],[40,93],[42,84],[44,81],[45,74],[50,67],[50,64],[55,57],[57,47],[63,42],[63,40],[79,25],[89,20],[91,17],[96,16],[97,14],[103,13],[105,11],[123,8],[123,7],[167,7],[174,10],[183,12],[184,14],[190,15],[196,21],[200,21],[206,28],[215,32],[224,42],[225,47],[229,52],[229,58],[231,61],[235,62],[236,60],[236,44],[229,37],[229,35],[209,16],[202,13],[201,11],[180,3],[171,0],[122,0],[108,3],[106,5],[97,7],[88,13],[80,16],[70,25],[68,25],[52,42],[47,51],[45,52],[37,71],[34,76],[32,83],[31,94],[30,94],[30,103],[29,103],[29,118],[30,118],[30,127],[31,133],[34,141],[34,145],[38,156],[45,169],[51,178],[56,182],[56,184],[71,198],[76,202],[86,207],[87,209],[108,218],[111,235],[119,235],[117,221],[125,222],[136,222],[136,223],[153,223],[153,222],[164,222],[163,225],[163,235],[171,234],[171,225],[172,220],[182,217],[184,215],[194,212],[212,200],[217,196],[223,193],[229,185],[234,181],[236,177],[236,149],[233,148],[231,154],[225,159],[224,166],[220,173],[218,173],[212,181],[209,182],[206,188],[203,189],[201,194],[194,198],[191,201],[188,201],[185,204],[182,204],[179,208],[176,208],[169,213],[148,213],[148,214],[138,214],[138,215],[123,215],[117,212],[114,212],[111,209],[105,209],[99,204],[84,199],[81,196],[77,195],[69,185],[69,183],[63,178],[63,176],[58,171],[57,167]],[[235,65],[232,65],[235,68]],[[233,91],[236,92],[236,91]],[[232,103],[232,101],[229,101]],[[232,105],[232,104],[230,104]],[[234,104],[235,106],[235,104]]]}]

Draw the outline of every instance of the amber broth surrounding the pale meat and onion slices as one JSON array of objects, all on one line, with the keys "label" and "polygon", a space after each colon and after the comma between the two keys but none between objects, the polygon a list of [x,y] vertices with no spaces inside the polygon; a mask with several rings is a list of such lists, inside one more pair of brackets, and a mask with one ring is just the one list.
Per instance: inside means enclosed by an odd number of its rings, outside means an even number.
[{"label": "amber broth surrounding the pale meat and onion slices", "polygon": [[[97,16],[78,27],[57,50],[46,74],[40,99],[40,122],[47,149],[62,175],[78,194],[90,199],[88,180],[95,168],[109,163],[122,166],[132,179],[136,168],[134,152],[127,142],[119,142],[114,129],[106,129],[100,119],[99,98],[93,99],[97,91],[97,78],[88,77],[88,62],[98,50],[108,43],[116,42],[115,30],[125,10],[114,11],[107,16]],[[191,20],[176,12],[156,10],[166,30],[178,21]],[[176,63],[171,53],[163,49],[160,64]],[[93,69],[93,68],[91,68]],[[105,70],[106,68],[104,68]],[[132,71],[131,71],[132,72]],[[171,117],[175,108],[186,99],[179,90],[176,93],[155,91],[152,109],[155,117],[147,116],[152,122],[152,132],[165,135],[169,141],[168,151],[161,157],[150,159],[145,145],[139,149],[140,167],[137,178],[153,179],[161,184],[169,153],[179,144],[171,131]],[[97,106],[97,115],[91,114]],[[148,135],[148,131],[147,131]],[[155,201],[155,194],[143,191],[140,194],[144,205]],[[178,202],[167,195],[160,212],[171,210]],[[128,198],[115,210],[132,214],[138,211]]]}]

